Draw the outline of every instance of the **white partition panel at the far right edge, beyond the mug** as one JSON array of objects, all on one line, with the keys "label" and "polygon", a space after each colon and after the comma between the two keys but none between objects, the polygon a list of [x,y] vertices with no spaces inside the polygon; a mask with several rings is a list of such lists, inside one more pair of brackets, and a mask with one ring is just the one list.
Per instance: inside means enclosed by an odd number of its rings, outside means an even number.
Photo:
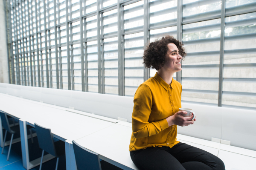
[{"label": "white partition panel at the far right edge, beyond the mug", "polygon": [[221,139],[232,146],[256,150],[256,111],[221,107],[223,110]]}]

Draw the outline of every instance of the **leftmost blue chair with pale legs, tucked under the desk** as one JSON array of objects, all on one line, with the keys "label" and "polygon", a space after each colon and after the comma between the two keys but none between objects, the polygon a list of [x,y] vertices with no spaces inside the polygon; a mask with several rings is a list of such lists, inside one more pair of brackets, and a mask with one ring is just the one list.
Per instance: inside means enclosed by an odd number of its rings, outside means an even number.
[{"label": "leftmost blue chair with pale legs, tucked under the desk", "polygon": [[[10,146],[9,146],[9,151],[8,151],[8,155],[7,155],[7,161],[9,161],[10,151],[11,151],[11,147],[12,147],[13,135],[15,133],[20,132],[20,126],[16,125],[16,126],[10,127],[9,120],[7,118],[6,112],[3,112],[1,110],[0,110],[0,117],[1,117],[1,121],[2,121],[2,126],[6,130],[5,135],[4,135],[4,139],[3,139],[3,148],[2,148],[2,153],[1,154],[3,154],[4,145],[5,145],[5,142],[6,142],[7,132],[12,134],[11,142],[10,142]],[[32,128],[31,126],[27,125],[27,129],[30,130],[31,140],[32,140],[32,143],[33,143],[33,136],[32,136],[31,128]]]}]

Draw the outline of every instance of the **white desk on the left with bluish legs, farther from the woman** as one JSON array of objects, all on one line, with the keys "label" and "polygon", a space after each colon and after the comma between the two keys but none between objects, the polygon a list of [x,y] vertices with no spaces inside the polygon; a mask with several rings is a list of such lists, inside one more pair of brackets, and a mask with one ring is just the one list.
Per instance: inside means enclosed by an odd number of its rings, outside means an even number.
[{"label": "white desk on the left with bluish legs, farther from the woman", "polygon": [[[67,150],[67,169],[74,169],[75,167],[75,164],[72,161],[74,157],[73,153],[70,153],[72,148],[69,148],[69,141],[82,138],[114,124],[109,121],[103,121],[41,104],[18,100],[8,96],[0,98],[0,109],[13,117],[20,119],[23,166],[27,170],[37,166],[40,163],[41,158],[29,161],[26,124],[34,127],[34,123],[38,123],[43,127],[50,128],[54,137],[65,141]],[[50,158],[50,156],[45,156],[44,161],[49,160]]]}]

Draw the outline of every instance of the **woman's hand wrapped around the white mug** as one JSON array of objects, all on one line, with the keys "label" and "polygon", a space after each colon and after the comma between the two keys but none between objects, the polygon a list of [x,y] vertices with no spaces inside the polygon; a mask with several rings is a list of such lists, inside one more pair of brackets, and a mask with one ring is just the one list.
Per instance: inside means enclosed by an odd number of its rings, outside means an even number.
[{"label": "woman's hand wrapped around the white mug", "polygon": [[188,126],[190,124],[194,124],[195,118],[193,120],[191,120],[193,118],[193,113],[191,116],[189,117],[184,117],[182,116],[183,114],[187,114],[186,111],[179,111],[177,113],[175,113],[172,116],[169,116],[168,118],[166,118],[166,121],[168,122],[169,126],[172,126],[174,124],[178,125],[178,126]]}]

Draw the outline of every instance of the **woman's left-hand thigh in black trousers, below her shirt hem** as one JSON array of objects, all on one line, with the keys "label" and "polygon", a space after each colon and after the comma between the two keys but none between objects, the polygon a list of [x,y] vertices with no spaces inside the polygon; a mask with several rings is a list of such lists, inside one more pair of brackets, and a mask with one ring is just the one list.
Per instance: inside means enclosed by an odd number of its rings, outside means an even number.
[{"label": "woman's left-hand thigh in black trousers, below her shirt hem", "polygon": [[144,150],[132,151],[130,155],[131,160],[140,170],[185,170],[163,147],[148,147]]}]

